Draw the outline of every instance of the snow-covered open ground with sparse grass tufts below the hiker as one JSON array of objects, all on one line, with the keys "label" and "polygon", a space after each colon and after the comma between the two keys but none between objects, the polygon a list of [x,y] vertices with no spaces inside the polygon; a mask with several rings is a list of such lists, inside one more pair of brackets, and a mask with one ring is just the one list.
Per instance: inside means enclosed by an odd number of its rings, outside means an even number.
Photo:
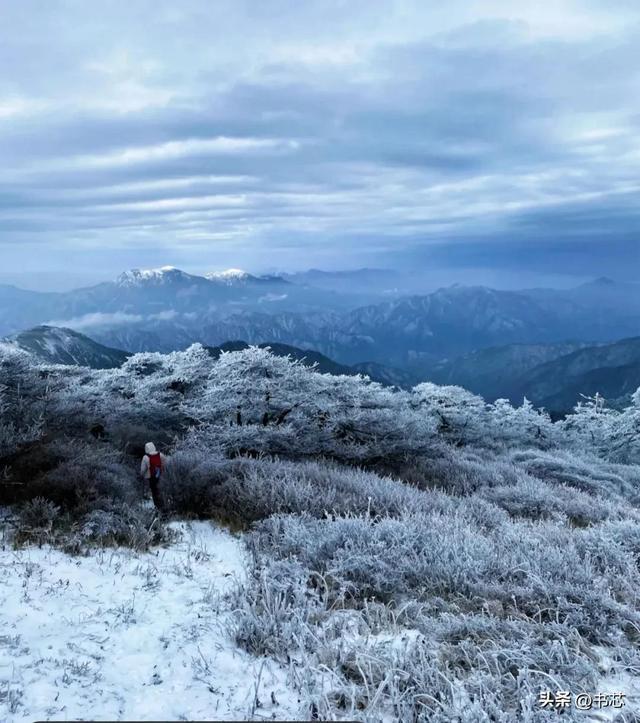
[{"label": "snow-covered open ground with sparse grass tufts below the hiker", "polygon": [[301,717],[287,671],[225,632],[239,540],[176,527],[152,553],[0,551],[0,721]]}]

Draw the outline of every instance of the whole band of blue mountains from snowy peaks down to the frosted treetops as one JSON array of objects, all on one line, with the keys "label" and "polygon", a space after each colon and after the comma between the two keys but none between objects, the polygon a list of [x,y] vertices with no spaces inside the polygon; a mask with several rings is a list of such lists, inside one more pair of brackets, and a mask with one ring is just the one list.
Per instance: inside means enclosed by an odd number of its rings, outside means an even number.
[{"label": "whole band of blue mountains from snowy peaks down to the frosted treetops", "polygon": [[[197,276],[162,267],[65,293],[0,286],[0,335],[43,324],[64,327],[67,335],[81,332],[97,346],[70,348],[68,358],[92,365],[92,357],[117,362],[105,349],[167,352],[193,342],[216,347],[242,339],[309,357],[315,352],[323,363],[385,383],[431,379],[488,399],[518,401],[526,394],[550,409],[565,409],[578,388],[586,394],[600,385],[613,398],[635,383],[635,357],[614,342],[640,335],[638,284],[602,278],[569,290],[523,291],[456,285],[396,296],[391,285],[399,279],[376,269],[286,276],[229,269]],[[363,305],[367,288],[375,303]],[[53,349],[58,358],[61,342],[52,334],[25,338],[24,344],[39,344],[41,356]],[[593,363],[578,373],[578,361],[563,366],[572,354]]]}]

